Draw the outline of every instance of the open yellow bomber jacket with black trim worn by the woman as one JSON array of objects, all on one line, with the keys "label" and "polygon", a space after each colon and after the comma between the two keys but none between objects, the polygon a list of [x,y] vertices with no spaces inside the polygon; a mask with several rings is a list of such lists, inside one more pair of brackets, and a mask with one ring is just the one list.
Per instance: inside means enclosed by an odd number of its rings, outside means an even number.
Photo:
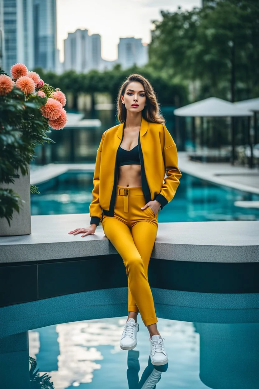
[{"label": "open yellow bomber jacket with black trim worn by the woman", "polygon": [[[93,200],[89,206],[90,224],[98,226],[103,214],[114,216],[118,183],[116,156],[123,139],[123,127],[124,123],[118,124],[102,135],[94,169]],[[138,146],[146,203],[157,200],[162,210],[174,197],[182,175],[177,166],[176,144],[164,124],[151,123],[142,117]]]}]

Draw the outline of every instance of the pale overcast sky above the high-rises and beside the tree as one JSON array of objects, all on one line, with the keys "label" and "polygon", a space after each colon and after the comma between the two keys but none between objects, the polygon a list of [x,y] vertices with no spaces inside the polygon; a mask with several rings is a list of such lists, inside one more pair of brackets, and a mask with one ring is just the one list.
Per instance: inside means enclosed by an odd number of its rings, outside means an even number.
[{"label": "pale overcast sky above the high-rises and beside the tree", "polygon": [[68,32],[87,28],[89,35],[101,35],[104,60],[118,58],[119,38],[151,40],[152,20],[160,20],[160,10],[176,11],[200,7],[201,0],[57,0],[57,47],[64,58],[63,40]]}]

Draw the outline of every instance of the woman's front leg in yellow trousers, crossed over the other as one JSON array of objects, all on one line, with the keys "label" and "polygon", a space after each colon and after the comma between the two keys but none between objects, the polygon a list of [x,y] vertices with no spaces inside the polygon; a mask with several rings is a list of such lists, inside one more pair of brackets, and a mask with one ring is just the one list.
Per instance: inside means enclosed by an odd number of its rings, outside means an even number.
[{"label": "woman's front leg in yellow trousers, crossed over the other", "polygon": [[[134,301],[136,301],[144,324],[149,326],[156,323],[153,296],[144,269],[143,259],[134,243],[130,228],[123,221],[110,216],[105,216],[102,224],[106,237],[123,259],[130,291]],[[144,225],[146,224],[148,223]]]}]

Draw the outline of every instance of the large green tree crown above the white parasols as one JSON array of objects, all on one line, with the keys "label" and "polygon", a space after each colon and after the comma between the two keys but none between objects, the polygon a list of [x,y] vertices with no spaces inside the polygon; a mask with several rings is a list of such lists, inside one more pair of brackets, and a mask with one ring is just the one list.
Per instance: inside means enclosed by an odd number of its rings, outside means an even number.
[{"label": "large green tree crown above the white parasols", "polygon": [[259,3],[216,0],[191,11],[163,12],[153,21],[150,64],[188,85],[196,99],[245,99],[259,93]]}]

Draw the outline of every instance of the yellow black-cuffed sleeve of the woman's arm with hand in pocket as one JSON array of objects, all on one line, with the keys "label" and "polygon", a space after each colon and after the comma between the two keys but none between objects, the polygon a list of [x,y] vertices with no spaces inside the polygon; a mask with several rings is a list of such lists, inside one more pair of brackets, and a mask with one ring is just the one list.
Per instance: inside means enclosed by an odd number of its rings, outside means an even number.
[{"label": "yellow black-cuffed sleeve of the woman's arm with hand in pocket", "polygon": [[167,177],[164,179],[160,193],[156,196],[155,200],[160,202],[162,207],[169,203],[174,195],[176,194],[176,189],[180,183],[180,178],[182,173],[178,168],[178,158],[177,158],[177,149],[176,144],[167,130],[166,126],[164,128],[164,148],[163,148],[163,159],[165,163],[165,170]]}]

